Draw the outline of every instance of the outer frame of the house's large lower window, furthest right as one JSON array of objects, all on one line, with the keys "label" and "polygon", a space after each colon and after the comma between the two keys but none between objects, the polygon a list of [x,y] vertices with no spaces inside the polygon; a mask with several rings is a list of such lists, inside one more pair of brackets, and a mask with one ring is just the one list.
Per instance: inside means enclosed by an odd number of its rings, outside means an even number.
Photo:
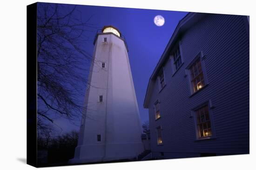
[{"label": "outer frame of the house's large lower window, furthest right", "polygon": [[[201,109],[202,107],[206,107],[208,106],[208,114],[209,114],[209,120],[210,120],[210,125],[211,125],[211,131],[212,131],[212,135],[211,136],[207,136],[207,137],[200,137],[199,136],[199,130],[198,130],[198,122],[197,122],[197,113],[196,111],[198,111],[199,109]],[[206,139],[216,139],[216,132],[215,132],[215,126],[214,126],[214,117],[213,117],[213,109],[214,107],[212,106],[211,100],[206,101],[204,103],[202,103],[201,105],[193,108],[191,110],[191,114],[192,117],[194,118],[194,128],[195,128],[195,141],[200,141],[200,140],[206,140]]]}]

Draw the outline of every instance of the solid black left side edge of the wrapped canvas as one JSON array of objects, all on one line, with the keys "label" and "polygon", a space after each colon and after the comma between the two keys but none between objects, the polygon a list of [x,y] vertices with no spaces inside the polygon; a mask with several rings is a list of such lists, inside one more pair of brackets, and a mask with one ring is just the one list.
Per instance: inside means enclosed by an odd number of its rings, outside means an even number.
[{"label": "solid black left side edge of the wrapped canvas", "polygon": [[27,6],[27,164],[37,167],[37,3]]}]

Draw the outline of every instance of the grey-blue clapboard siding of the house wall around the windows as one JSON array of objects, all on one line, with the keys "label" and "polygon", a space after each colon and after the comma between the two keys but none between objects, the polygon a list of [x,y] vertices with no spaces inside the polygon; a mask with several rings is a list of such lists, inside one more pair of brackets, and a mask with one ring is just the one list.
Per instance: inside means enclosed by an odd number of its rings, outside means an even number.
[{"label": "grey-blue clapboard siding of the house wall around the windows", "polygon": [[[170,59],[164,64],[166,86],[159,93],[155,81],[149,101],[151,150],[179,153],[249,153],[249,37],[244,16],[207,14],[182,34],[182,66],[173,75]],[[178,42],[177,42],[178,43]],[[191,95],[185,69],[202,51],[208,85]],[[161,118],[155,120],[154,102],[160,100]],[[216,138],[196,140],[191,110],[211,101]],[[162,126],[163,145],[155,128]],[[171,154],[173,153],[173,154]],[[197,154],[196,154],[197,153]],[[181,154],[187,157],[186,154]]]}]

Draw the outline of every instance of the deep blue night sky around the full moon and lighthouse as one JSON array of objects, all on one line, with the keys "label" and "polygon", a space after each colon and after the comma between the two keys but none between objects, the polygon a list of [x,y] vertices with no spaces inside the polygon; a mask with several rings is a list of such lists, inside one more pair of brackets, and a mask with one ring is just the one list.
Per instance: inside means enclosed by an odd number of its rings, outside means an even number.
[{"label": "deep blue night sky around the full moon and lighthouse", "polygon": [[[67,11],[70,7],[74,7],[65,6]],[[81,5],[77,6],[76,10],[81,13],[84,21],[90,18],[88,23],[94,24],[94,28],[90,28],[87,33],[89,40],[85,43],[85,50],[89,54],[93,54],[93,41],[97,30],[102,29],[104,25],[115,26],[126,38],[141,123],[147,121],[148,109],[143,108],[143,101],[149,77],[162,56],[176,25],[187,12]],[[165,24],[163,26],[155,25],[154,18],[156,15],[164,17]],[[88,76],[88,73],[85,76]],[[55,123],[61,126],[62,132],[78,131],[80,120],[76,126],[61,118],[55,120]]]}]

